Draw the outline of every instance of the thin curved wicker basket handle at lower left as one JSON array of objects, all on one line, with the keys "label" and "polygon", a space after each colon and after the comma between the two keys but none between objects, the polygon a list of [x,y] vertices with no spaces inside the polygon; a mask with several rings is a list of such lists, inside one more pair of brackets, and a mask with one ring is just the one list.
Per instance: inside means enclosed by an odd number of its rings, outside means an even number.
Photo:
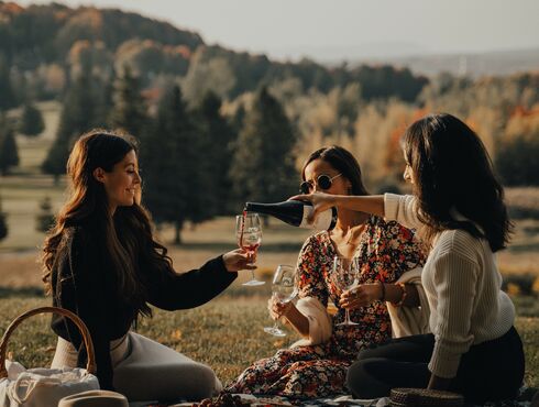
[{"label": "thin curved wicker basket handle at lower left", "polygon": [[86,370],[88,371],[88,373],[96,374],[96,353],[94,351],[94,343],[91,342],[90,331],[86,327],[85,322],[82,322],[82,320],[76,314],[69,311],[68,309],[58,307],[38,307],[21,314],[13,320],[13,322],[10,323],[10,326],[3,333],[2,340],[0,341],[0,378],[8,377],[8,370],[6,369],[6,352],[8,350],[9,338],[23,320],[38,314],[58,314],[70,319],[73,323],[77,326],[80,333],[82,334],[86,352],[88,353]]}]

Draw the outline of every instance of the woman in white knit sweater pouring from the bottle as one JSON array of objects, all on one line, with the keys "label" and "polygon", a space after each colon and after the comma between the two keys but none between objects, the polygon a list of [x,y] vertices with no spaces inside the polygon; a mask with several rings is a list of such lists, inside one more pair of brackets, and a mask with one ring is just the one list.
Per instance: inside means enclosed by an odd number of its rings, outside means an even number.
[{"label": "woman in white knit sweater pouring from the bottle", "polygon": [[430,253],[421,280],[432,333],[394,339],[360,352],[348,386],[361,398],[394,387],[450,389],[483,403],[515,396],[525,362],[515,308],[501,290],[495,252],[512,223],[491,158],[479,136],[450,114],[411,124],[403,138],[404,177],[413,196],[298,196],[396,220],[417,229]]}]

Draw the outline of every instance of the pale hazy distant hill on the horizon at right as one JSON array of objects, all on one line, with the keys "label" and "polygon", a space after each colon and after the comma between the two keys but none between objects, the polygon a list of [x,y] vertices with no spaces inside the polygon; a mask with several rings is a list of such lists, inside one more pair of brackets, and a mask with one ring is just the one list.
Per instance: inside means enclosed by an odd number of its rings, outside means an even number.
[{"label": "pale hazy distant hill on the horizon at right", "polygon": [[416,75],[437,75],[442,72],[453,75],[481,76],[512,75],[539,72],[539,48],[496,51],[481,54],[418,55],[395,58],[359,59],[358,64],[392,64],[407,67]]}]

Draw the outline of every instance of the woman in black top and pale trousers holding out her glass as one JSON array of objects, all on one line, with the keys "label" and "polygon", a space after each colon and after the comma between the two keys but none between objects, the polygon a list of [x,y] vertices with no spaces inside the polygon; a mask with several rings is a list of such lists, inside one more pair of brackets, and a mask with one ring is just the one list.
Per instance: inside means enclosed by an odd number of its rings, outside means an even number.
[{"label": "woman in black top and pale trousers holding out her glass", "polygon": [[[152,234],[141,206],[134,139],[95,130],[75,143],[67,163],[70,194],[47,234],[44,276],[53,304],[87,324],[101,388],[131,400],[202,398],[220,391],[212,370],[130,331],[150,305],[194,308],[221,293],[242,268],[241,250],[177,274],[167,250]],[[84,366],[86,352],[76,327],[55,316],[58,334],[53,366]]]}]

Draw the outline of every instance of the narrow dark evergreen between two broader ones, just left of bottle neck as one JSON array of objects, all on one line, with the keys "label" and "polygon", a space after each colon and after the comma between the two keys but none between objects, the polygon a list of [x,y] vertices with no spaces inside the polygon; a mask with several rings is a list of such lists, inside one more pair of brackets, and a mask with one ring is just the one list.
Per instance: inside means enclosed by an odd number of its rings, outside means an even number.
[{"label": "narrow dark evergreen between two broader ones, just left of bottle neck", "polygon": [[205,95],[197,109],[197,118],[201,127],[201,151],[205,157],[200,162],[205,168],[200,168],[199,173],[207,175],[204,184],[212,191],[206,196],[208,199],[213,198],[213,202],[207,205],[213,208],[215,215],[230,215],[238,210],[231,202],[232,182],[229,176],[237,133],[221,116],[220,109],[221,99],[212,91]]}]

